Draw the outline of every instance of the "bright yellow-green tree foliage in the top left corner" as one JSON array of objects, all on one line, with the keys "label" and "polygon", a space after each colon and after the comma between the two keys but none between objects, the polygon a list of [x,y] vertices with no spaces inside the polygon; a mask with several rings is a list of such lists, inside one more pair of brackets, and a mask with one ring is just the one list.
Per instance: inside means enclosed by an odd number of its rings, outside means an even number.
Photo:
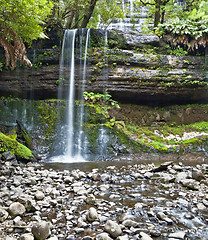
[{"label": "bright yellow-green tree foliage in the top left corner", "polygon": [[12,41],[6,29],[12,29],[27,43],[45,37],[43,21],[53,4],[49,0],[0,0],[0,32]]}]

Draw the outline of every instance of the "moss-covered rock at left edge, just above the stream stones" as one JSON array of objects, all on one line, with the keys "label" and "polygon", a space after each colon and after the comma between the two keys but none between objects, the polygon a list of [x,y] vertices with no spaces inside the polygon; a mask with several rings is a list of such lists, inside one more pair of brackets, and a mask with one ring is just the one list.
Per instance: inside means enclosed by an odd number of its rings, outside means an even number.
[{"label": "moss-covered rock at left edge, just above the stream stones", "polygon": [[29,148],[0,132],[0,153],[3,152],[14,154],[17,160],[34,159],[32,151]]}]

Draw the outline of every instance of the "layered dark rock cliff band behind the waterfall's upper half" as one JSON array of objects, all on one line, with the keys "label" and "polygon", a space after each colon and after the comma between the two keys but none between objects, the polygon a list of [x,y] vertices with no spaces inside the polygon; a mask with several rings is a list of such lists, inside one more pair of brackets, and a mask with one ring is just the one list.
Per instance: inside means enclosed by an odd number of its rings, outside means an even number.
[{"label": "layered dark rock cliff band behind the waterfall's upper half", "polygon": [[[207,102],[204,57],[167,55],[164,43],[156,35],[115,31],[108,32],[105,52],[104,35],[101,30],[91,31],[87,91],[108,89],[113,98],[133,103]],[[44,49],[36,54],[39,63],[35,63],[34,68],[0,73],[1,95],[36,99],[57,97],[59,51]],[[80,81],[79,61],[76,59],[77,81]],[[67,83],[65,89],[67,92]]]}]

